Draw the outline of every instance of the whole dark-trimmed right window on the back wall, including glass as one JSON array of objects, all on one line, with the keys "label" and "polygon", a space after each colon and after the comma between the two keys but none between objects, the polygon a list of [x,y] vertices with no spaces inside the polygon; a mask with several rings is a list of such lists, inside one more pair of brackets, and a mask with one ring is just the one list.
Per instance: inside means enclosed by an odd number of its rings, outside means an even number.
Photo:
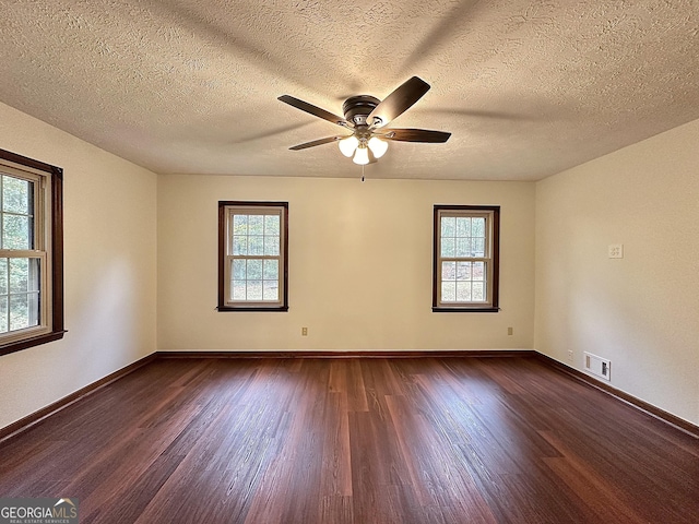
[{"label": "whole dark-trimmed right window on the back wall, including glass", "polygon": [[433,311],[498,311],[499,206],[435,205]]}]

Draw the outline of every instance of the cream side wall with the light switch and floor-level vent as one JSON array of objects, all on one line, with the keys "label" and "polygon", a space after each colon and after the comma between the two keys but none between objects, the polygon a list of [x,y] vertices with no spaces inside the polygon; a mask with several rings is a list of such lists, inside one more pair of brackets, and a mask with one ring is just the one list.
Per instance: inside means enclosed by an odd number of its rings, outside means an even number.
[{"label": "cream side wall with the light switch and floor-level vent", "polygon": [[[536,187],[535,348],[699,424],[699,120]],[[611,243],[624,259],[607,258]]]}]

